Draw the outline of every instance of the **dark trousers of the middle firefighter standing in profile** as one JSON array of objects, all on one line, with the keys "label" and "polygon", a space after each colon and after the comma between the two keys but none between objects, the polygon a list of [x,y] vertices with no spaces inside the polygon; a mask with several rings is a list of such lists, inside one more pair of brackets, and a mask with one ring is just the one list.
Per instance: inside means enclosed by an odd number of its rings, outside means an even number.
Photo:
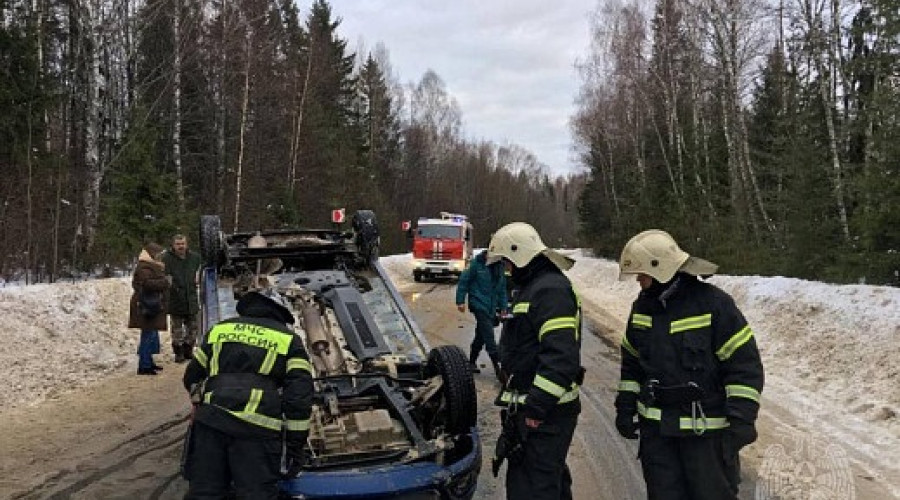
[{"label": "dark trousers of the middle firefighter standing in profile", "polygon": [[572,499],[572,475],[566,465],[566,455],[577,422],[577,413],[553,415],[537,429],[528,429],[524,454],[509,460],[507,499]]}]

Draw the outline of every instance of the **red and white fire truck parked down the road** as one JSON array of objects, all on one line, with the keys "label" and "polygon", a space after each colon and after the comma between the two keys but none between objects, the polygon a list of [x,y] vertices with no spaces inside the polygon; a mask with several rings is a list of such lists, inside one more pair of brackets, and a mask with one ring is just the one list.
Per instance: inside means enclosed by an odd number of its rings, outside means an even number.
[{"label": "red and white fire truck parked down the road", "polygon": [[413,230],[413,277],[457,277],[472,258],[472,224],[465,215],[421,217]]}]

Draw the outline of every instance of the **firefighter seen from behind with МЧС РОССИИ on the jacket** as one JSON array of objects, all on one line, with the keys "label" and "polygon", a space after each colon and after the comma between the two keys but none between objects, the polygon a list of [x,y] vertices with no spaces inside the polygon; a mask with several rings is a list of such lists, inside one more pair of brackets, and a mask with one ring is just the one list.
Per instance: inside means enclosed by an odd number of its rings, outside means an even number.
[{"label": "firefighter seen from behind with \u041c\u0427\u0421 \u0420\u041e\u0421\u0421\u0418\u0418 on the jacket", "polygon": [[245,294],[237,312],[206,334],[185,370],[184,386],[199,403],[185,498],[225,498],[233,488],[237,498],[275,499],[280,473],[295,474],[304,462],[313,385],[302,341],[288,326],[294,316],[271,289]]}]

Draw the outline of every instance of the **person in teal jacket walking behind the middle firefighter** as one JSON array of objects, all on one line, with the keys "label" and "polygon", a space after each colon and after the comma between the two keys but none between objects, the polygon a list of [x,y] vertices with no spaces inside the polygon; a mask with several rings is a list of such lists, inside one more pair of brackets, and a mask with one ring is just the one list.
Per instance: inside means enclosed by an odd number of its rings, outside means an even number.
[{"label": "person in teal jacket walking behind the middle firefighter", "polygon": [[497,378],[502,382],[500,353],[494,339],[494,318],[498,312],[506,313],[506,276],[499,262],[487,264],[486,250],[476,255],[459,277],[456,286],[456,308],[459,312],[466,310],[466,296],[469,298],[469,311],[475,315],[475,338],[469,351],[469,364],[473,372],[480,373],[476,361],[483,347],[491,358]]}]

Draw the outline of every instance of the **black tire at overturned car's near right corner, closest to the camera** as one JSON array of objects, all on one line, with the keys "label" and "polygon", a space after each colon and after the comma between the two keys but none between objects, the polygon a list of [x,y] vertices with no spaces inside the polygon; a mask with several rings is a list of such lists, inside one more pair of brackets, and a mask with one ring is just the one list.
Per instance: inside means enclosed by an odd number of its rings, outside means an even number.
[{"label": "black tire at overturned car's near right corner, closest to the camera", "polygon": [[475,379],[469,369],[469,360],[457,346],[435,347],[428,355],[430,376],[440,375],[445,415],[441,416],[444,428],[450,434],[463,434],[475,426],[477,396]]}]

